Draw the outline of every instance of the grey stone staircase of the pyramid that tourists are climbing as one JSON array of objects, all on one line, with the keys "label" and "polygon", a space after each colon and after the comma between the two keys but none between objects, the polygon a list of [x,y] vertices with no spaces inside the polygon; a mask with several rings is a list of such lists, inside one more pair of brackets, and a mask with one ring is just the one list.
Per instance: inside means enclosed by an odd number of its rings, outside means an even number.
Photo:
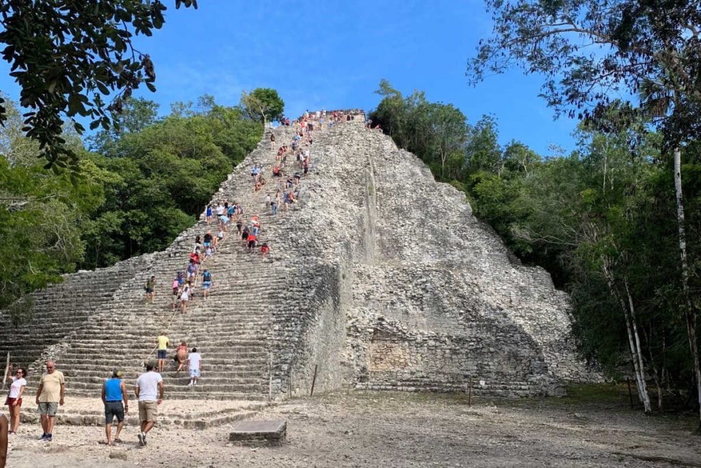
[{"label": "grey stone staircase of the pyramid that tourists are climbing", "polygon": [[[229,180],[222,184],[213,201],[228,199],[240,203],[244,220],[261,217],[259,240],[271,245],[261,258],[245,251],[236,239],[236,227],[205,266],[215,286],[207,300],[196,288],[186,314],[170,311],[170,282],[177,270],[184,270],[196,235],[207,229],[200,220],[178,236],[162,253],[142,255],[116,267],[95,272],[66,275],[64,283],[34,293],[34,318],[19,328],[8,326],[1,316],[0,353],[11,352],[12,361],[31,363],[29,387],[36,386],[43,361],[53,359],[67,380],[67,394],[99,396],[102,382],[114,369],[125,373],[132,383],[142,372],[142,362],[154,359],[156,335],[166,330],[172,345],[186,342],[203,354],[203,378],[196,387],[186,387],[189,376],[176,373],[169,352],[163,373],[168,398],[266,399],[270,394],[271,354],[267,338],[271,316],[289,310],[297,301],[296,269],[285,253],[294,248],[292,235],[299,231],[294,218],[299,204],[272,216],[264,206],[263,190],[253,193],[250,167],[263,163],[266,178],[275,161],[267,140],[248,156]],[[276,131],[278,142],[292,138],[291,128]],[[271,184],[273,185],[273,184]],[[217,229],[212,229],[216,232]],[[294,262],[292,262],[294,263]],[[144,303],[143,285],[156,276],[155,304]]]}]

